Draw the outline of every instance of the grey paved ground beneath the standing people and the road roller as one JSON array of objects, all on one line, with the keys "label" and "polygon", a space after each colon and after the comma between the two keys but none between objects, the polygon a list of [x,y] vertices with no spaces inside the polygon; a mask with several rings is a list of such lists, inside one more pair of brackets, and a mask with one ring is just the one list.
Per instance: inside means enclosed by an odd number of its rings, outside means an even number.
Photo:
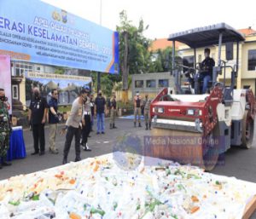
[{"label": "grey paved ground beneath the standing people and the road roller", "polygon": [[[117,121],[118,130],[108,129],[108,119],[106,121],[106,134],[96,135],[96,132],[91,133],[89,138],[89,144],[92,152],[82,151],[82,158],[95,157],[105,153],[112,153],[113,146],[117,141],[117,137],[131,133],[134,135],[148,135],[149,132],[144,128],[133,128],[132,120],[121,119]],[[96,127],[95,127],[96,128]],[[49,130],[45,129],[46,142],[48,141]],[[61,164],[62,150],[64,146],[65,136],[58,135],[56,139],[56,145],[61,153],[54,155],[47,153],[44,156],[32,156],[32,132],[30,130],[24,130],[24,138],[26,141],[26,153],[27,157],[20,160],[14,160],[12,166],[3,168],[0,170],[0,180],[6,179],[10,176],[19,174],[31,173],[38,170],[48,169]],[[256,138],[255,138],[256,139]],[[254,139],[253,147],[249,150],[232,147],[227,153],[225,153],[225,164],[216,167],[212,170],[212,173],[224,176],[236,176],[241,180],[256,182],[256,141]],[[48,149],[48,144],[46,143]],[[74,159],[74,146],[71,147],[69,153],[69,160]],[[256,219],[256,213],[251,218]]]}]

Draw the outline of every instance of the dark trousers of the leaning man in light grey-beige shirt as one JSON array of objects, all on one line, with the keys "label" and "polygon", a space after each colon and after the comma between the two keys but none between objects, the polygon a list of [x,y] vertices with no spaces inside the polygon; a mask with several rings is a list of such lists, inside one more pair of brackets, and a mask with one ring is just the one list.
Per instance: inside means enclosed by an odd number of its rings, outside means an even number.
[{"label": "dark trousers of the leaning man in light grey-beige shirt", "polygon": [[81,137],[80,128],[74,128],[73,126],[68,126],[65,147],[64,147],[64,157],[65,158],[67,158],[67,155],[69,153],[69,149],[70,149],[70,146],[71,146],[71,143],[73,140],[73,135],[75,136],[76,156],[80,156],[80,137]]}]

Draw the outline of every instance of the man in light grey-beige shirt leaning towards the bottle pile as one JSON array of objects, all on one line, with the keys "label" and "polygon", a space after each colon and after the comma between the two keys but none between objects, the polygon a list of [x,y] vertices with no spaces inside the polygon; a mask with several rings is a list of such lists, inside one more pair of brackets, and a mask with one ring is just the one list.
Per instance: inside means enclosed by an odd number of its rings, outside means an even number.
[{"label": "man in light grey-beige shirt leaning towards the bottle pile", "polygon": [[73,140],[73,135],[75,136],[75,152],[76,152],[75,162],[81,160],[80,158],[81,131],[80,131],[79,125],[82,121],[83,102],[85,100],[87,100],[87,91],[85,89],[82,89],[79,93],[79,97],[73,101],[70,115],[67,118],[67,123],[66,123],[67,135],[66,135],[62,164],[67,164],[67,156]]}]

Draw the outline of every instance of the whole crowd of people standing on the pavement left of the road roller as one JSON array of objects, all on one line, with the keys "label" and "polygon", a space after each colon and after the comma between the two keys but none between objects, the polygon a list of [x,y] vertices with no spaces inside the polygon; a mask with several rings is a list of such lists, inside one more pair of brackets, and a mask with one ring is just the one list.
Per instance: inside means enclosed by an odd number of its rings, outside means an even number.
[{"label": "whole crowd of people standing on the pavement left of the road roller", "polygon": [[[45,136],[44,125],[49,124],[49,153],[58,154],[59,148],[55,145],[58,124],[61,116],[58,111],[58,90],[51,90],[51,98],[46,101],[46,98],[40,94],[40,90],[36,87],[32,89],[32,101],[28,111],[28,121],[32,128],[33,147],[32,155],[42,156],[45,153]],[[150,130],[150,100],[148,95],[145,99],[139,95],[134,97],[134,127],[142,127],[141,115],[143,113],[145,119],[146,130]],[[85,87],[79,92],[79,96],[73,101],[70,114],[67,118],[66,126],[61,130],[62,134],[66,134],[66,141],[63,150],[62,164],[67,164],[68,153],[73,141],[75,141],[75,161],[79,161],[80,147],[84,151],[91,151],[88,145],[88,137],[93,131],[94,120],[96,118],[96,135],[105,134],[105,115],[110,116],[109,129],[117,129],[117,101],[116,95],[113,93],[109,101],[102,95],[99,90],[96,98],[90,94],[90,88]],[[2,166],[10,165],[6,162],[6,155],[9,149],[9,136],[11,134],[11,122],[9,118],[9,106],[4,90],[0,89],[0,169]]]}]

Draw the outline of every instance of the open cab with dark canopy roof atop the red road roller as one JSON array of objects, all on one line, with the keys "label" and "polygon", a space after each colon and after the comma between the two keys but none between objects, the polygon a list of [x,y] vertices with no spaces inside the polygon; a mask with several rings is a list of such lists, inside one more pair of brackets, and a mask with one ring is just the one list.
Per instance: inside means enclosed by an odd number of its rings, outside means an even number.
[{"label": "open cab with dark canopy roof atop the red road roller", "polygon": [[[210,89],[218,84],[218,75],[224,74],[224,81],[220,84],[225,91],[230,93],[234,89],[235,80],[238,72],[239,59],[239,43],[244,41],[244,37],[240,32],[236,32],[232,27],[220,23],[212,26],[195,28],[186,32],[177,32],[171,34],[168,40],[172,41],[172,75],[175,77],[176,94],[205,94],[210,93]],[[186,66],[184,63],[178,63],[175,59],[175,42],[184,43],[194,50],[194,66]],[[236,43],[236,61],[230,64],[233,60],[234,43]],[[221,60],[222,45],[225,44],[226,58]],[[218,46],[218,57],[214,61],[211,69],[207,69],[202,61],[197,60],[197,50],[207,49],[211,46]],[[211,60],[211,58],[210,58]],[[212,60],[213,61],[213,60]],[[226,70],[230,69],[231,81],[226,84]],[[207,84],[204,79],[207,77]],[[187,84],[184,86],[181,83],[181,78],[186,78]],[[207,87],[206,87],[207,85]],[[219,85],[219,84],[218,84]]]}]

